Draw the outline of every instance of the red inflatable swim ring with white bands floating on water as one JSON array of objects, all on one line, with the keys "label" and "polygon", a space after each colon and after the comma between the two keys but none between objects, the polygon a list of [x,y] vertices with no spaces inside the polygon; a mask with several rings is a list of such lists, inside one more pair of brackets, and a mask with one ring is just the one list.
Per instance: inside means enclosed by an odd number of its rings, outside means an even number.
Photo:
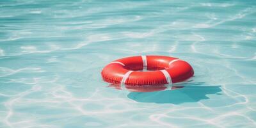
[{"label": "red inflatable swim ring with white bands floating on water", "polygon": [[121,58],[106,65],[101,72],[104,81],[126,87],[173,84],[185,81],[193,74],[194,70],[189,63],[168,56]]}]

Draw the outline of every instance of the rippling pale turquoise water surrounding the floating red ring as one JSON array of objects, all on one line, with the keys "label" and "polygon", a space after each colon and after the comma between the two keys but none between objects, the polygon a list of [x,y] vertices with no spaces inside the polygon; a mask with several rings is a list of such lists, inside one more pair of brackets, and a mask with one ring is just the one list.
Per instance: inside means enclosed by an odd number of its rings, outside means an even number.
[{"label": "rippling pale turquoise water surrounding the floating red ring", "polygon": [[[0,1],[0,127],[256,127],[255,1]],[[107,88],[125,56],[175,56],[179,90]]]}]

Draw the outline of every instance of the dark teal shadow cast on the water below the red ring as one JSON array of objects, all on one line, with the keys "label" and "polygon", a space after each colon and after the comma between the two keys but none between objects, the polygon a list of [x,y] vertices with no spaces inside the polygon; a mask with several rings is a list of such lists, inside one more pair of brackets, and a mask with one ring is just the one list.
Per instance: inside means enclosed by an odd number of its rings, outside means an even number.
[{"label": "dark teal shadow cast on the water below the red ring", "polygon": [[221,86],[184,86],[179,90],[164,90],[158,92],[131,92],[129,99],[137,102],[154,102],[159,104],[182,104],[209,99],[208,94],[220,94]]}]

